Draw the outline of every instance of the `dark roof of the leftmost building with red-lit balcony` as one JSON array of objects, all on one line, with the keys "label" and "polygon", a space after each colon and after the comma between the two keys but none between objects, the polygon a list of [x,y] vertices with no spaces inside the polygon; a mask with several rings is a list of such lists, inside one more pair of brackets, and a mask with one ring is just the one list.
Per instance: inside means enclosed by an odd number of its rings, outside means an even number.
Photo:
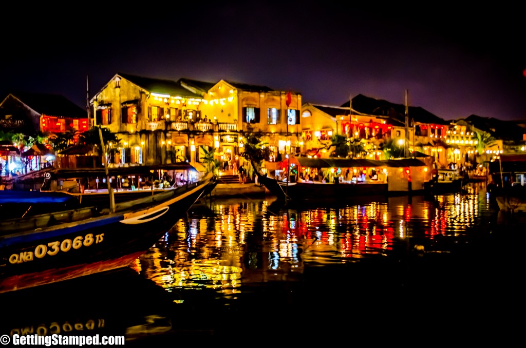
[{"label": "dark roof of the leftmost building with red-lit balcony", "polygon": [[[88,112],[62,95],[15,92],[9,96],[18,99],[40,115],[87,118]],[[8,97],[9,97],[8,96]]]}]

